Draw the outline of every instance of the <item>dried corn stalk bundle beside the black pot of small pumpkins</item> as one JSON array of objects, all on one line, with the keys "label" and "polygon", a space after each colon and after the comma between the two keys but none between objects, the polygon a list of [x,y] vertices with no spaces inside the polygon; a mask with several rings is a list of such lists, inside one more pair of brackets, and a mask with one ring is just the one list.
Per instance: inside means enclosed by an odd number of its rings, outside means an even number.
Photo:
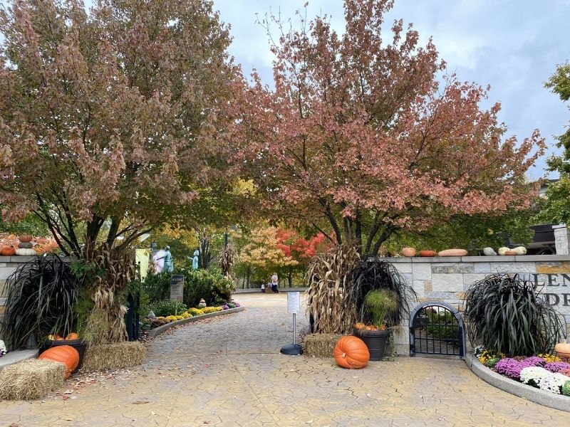
[{"label": "dried corn stalk bundle beside the black pot of small pumpkins", "polygon": [[336,246],[317,255],[307,271],[307,312],[314,318],[314,331],[343,334],[351,331],[356,311],[344,302],[351,293],[351,271],[360,260],[353,246]]}]

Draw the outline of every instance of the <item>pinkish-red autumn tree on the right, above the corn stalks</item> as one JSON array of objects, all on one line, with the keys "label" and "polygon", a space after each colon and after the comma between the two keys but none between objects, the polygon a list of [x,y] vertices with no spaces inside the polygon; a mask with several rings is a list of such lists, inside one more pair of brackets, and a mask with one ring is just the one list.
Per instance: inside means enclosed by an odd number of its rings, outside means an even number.
[{"label": "pinkish-red autumn tree on the right, above the corn stalks", "polygon": [[234,104],[237,159],[267,208],[328,222],[366,255],[403,228],[527,206],[537,188],[525,172],[544,152],[538,131],[505,138],[499,103],[480,107],[488,89],[446,75],[411,25],[394,21],[386,37],[392,6],[345,0],[341,35],[326,16],[281,26],[274,88],[254,73]]}]

